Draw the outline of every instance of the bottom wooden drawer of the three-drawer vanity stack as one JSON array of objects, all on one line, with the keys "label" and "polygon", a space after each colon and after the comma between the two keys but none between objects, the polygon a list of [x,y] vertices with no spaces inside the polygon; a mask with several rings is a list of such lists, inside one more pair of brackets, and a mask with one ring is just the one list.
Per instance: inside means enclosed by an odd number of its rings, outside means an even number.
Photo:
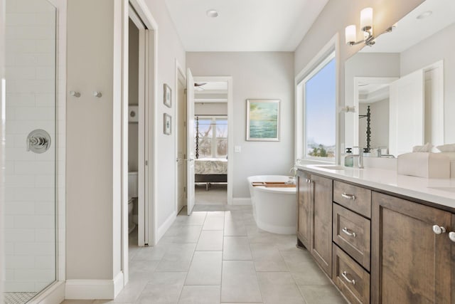
[{"label": "bottom wooden drawer of the three-drawer vanity stack", "polygon": [[333,244],[333,283],[350,303],[370,303],[370,273]]}]

